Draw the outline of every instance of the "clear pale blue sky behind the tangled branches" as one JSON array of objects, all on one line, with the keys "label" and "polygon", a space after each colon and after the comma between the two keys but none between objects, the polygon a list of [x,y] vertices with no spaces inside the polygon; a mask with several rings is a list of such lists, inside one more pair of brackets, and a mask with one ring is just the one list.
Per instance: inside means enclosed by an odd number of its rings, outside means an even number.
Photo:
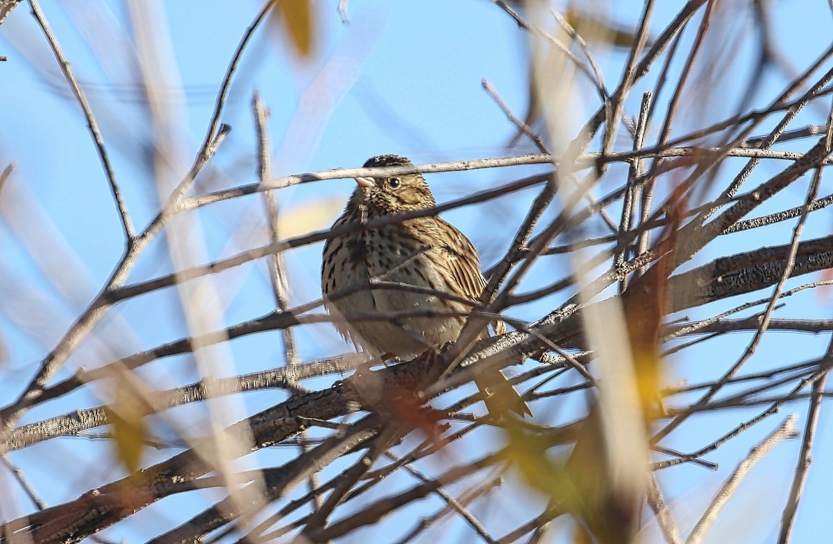
[{"label": "clear pale blue sky behind the tangled branches", "polygon": [[[252,92],[256,89],[271,111],[269,130],[275,176],[361,166],[369,156],[391,152],[421,163],[533,151],[526,142],[516,149],[506,148],[506,141],[514,131],[481,88],[481,80],[485,78],[517,115],[525,111],[526,35],[492,2],[351,0],[347,25],[339,19],[335,3],[317,3],[314,29],[317,48],[315,55],[305,62],[298,60],[277,32],[258,33],[243,58],[222,115],[222,121],[232,126],[232,132],[197,181],[195,192],[257,181],[250,108]],[[673,17],[681,2],[657,3],[661,4],[655,14],[655,27],[659,29]],[[739,12],[746,9],[745,2],[721,4],[727,10],[733,6]],[[158,28],[167,27],[167,37],[162,30],[156,37],[159,49],[167,51],[169,56],[157,59],[158,65],[152,69],[158,70],[170,85],[162,89],[162,96],[166,97],[168,111],[176,115],[175,135],[184,151],[182,160],[190,161],[202,141],[227,62],[258,6],[254,2],[235,5],[148,2],[147,5],[162,14],[157,20],[161,25]],[[118,2],[103,2],[94,7],[83,2],[44,2],[42,8],[92,103],[132,219],[141,229],[156,213],[158,197],[152,171],[147,166],[151,133],[141,103],[142,92],[137,87],[127,7]],[[612,2],[609,6],[613,17],[622,23],[634,22],[640,8],[641,2]],[[796,71],[801,71],[829,45],[824,40],[831,36],[830,8],[826,2],[790,0],[777,2],[774,9],[777,47]],[[744,32],[752,32],[744,17],[731,24],[736,26],[726,32],[727,36],[741,39],[746,36]],[[92,46],[88,44],[91,37],[94,37]],[[681,47],[690,43],[691,32],[687,32]],[[720,50],[712,52],[714,57],[710,60],[714,64],[711,66],[725,71],[722,74],[726,77],[710,93],[709,109],[704,112],[686,106],[688,109],[681,111],[674,126],[674,134],[685,134],[701,126],[701,115],[717,119],[736,107],[738,96],[732,84],[746,82],[752,65],[751,50],[741,47],[737,54],[720,53]],[[0,341],[5,354],[0,367],[0,399],[6,405],[31,378],[37,361],[95,296],[121,255],[123,240],[107,181],[80,111],[26,5],[17,7],[0,27],[0,54],[8,57],[7,62],[0,64],[0,100],[13,105],[0,112],[0,168],[9,162],[15,165],[14,176],[0,193],[3,215],[0,248],[4,255],[0,268],[0,296],[4,299],[0,303]],[[626,57],[621,52],[601,51],[597,58],[608,87],[612,87],[620,77]],[[652,82],[651,79],[651,83],[631,92],[626,103],[629,115],[636,114],[641,91],[651,88]],[[781,75],[767,74],[761,82],[756,104],[768,103],[784,85]],[[570,125],[583,122],[597,106],[596,97],[588,87],[578,89],[575,102],[570,105],[571,119],[565,121]],[[821,104],[819,101],[802,112],[794,126],[824,122],[826,111]],[[809,146],[806,141],[798,141],[782,148],[803,151]],[[730,164],[735,167],[736,163],[741,161]],[[750,183],[766,179],[780,167],[762,165]],[[437,200],[443,202],[537,171],[544,171],[544,167],[458,172],[431,176],[429,182]],[[621,168],[612,168],[611,178],[602,181],[602,187],[609,190],[616,186],[616,175],[622,172]],[[731,175],[732,172],[723,174]],[[349,180],[326,181],[282,191],[280,199],[288,217],[287,231],[298,234],[325,228],[339,213],[353,186]],[[804,190],[806,185],[796,184],[772,203],[771,210],[798,205],[804,198]],[[821,194],[829,192],[830,183],[823,183]],[[488,205],[453,210],[444,216],[469,235],[481,250],[484,265],[489,266],[506,251],[532,195],[534,192],[527,190]],[[761,210],[763,213],[766,211]],[[611,215],[616,217],[616,213]],[[199,212],[199,220],[201,243],[212,260],[262,245],[267,240],[262,203],[257,198],[209,207]],[[786,244],[791,225],[786,229],[783,225],[771,228],[766,234],[752,231],[748,235],[736,235],[729,242],[710,247],[698,263],[739,244],[744,250]],[[829,217],[816,214],[811,216],[805,237],[826,235],[829,231]],[[588,236],[605,232],[601,225],[586,226]],[[320,296],[317,279],[320,252],[321,246],[313,245],[287,254],[292,304]],[[561,258],[541,260],[525,287],[531,289],[553,275],[566,274],[566,266],[566,260]],[[167,247],[159,240],[139,260],[130,280],[166,274],[171,267]],[[799,279],[791,285],[809,280]],[[230,270],[218,281],[227,287],[221,300],[222,319],[227,324],[252,319],[273,308],[266,268],[260,263]],[[759,293],[756,297],[765,295]],[[510,314],[519,319],[536,319],[562,299],[551,297],[540,304],[511,309]],[[729,308],[736,304],[740,303],[731,300],[716,305]],[[829,299],[816,291],[807,291],[787,300],[786,308],[777,316],[829,317],[828,306]],[[703,311],[715,313],[711,306]],[[701,317],[697,312],[687,315]],[[181,309],[172,294],[154,293],[129,300],[113,309],[97,327],[97,338],[106,347],[92,342],[84,344],[59,377],[66,378],[82,365],[94,367],[107,362],[107,354],[123,357],[180,338],[186,332]],[[326,325],[302,327],[297,335],[304,361],[346,349]],[[736,334],[712,340],[672,359],[671,368],[691,382],[706,379],[714,373],[708,363],[716,354],[730,359],[739,357],[750,338],[750,335]],[[817,357],[827,341],[826,338],[771,334],[765,338],[747,371],[773,366],[783,358],[801,361]],[[229,354],[231,359],[222,369],[227,373],[247,373],[279,364],[282,349],[277,334],[260,334],[235,340]],[[156,361],[142,368],[140,374],[160,388],[190,383],[197,377],[192,361],[184,357]],[[321,381],[317,386],[326,387],[330,381]],[[60,402],[32,410],[25,422],[62,413],[70,407],[97,405],[102,402],[97,396],[107,398],[107,391],[73,393]],[[246,402],[249,410],[264,408],[276,402],[276,394],[252,395]],[[668,500],[680,499],[681,517],[696,517],[713,490],[751,445],[791,412],[800,415],[799,424],[803,425],[806,407],[794,404],[710,454],[709,460],[720,463],[718,472],[686,466],[664,474],[662,482]],[[685,433],[674,435],[669,445],[684,451],[696,448],[706,442],[704,437],[716,438],[720,433],[716,429],[728,430],[752,413],[756,410],[700,416],[686,427]],[[188,407],[175,410],[171,418],[174,423],[187,426],[205,416],[203,408]],[[831,462],[826,460],[829,456],[825,455],[833,446],[829,428],[830,418],[823,410],[815,464],[793,542],[814,542],[822,531],[829,529],[823,514],[826,485],[833,473]],[[115,464],[103,466],[98,460],[98,456],[107,453],[106,443],[80,442],[77,438],[56,440],[10,457],[31,472],[36,487],[39,482],[43,482],[42,487],[50,482],[48,489],[42,490],[43,496],[49,504],[56,504],[86,491],[88,479],[106,482],[118,473]],[[749,527],[737,527],[746,536],[745,542],[771,542],[776,535],[781,501],[786,496],[784,490],[790,484],[799,448],[799,441],[778,446],[756,468],[750,485],[739,493],[735,507],[741,513],[728,518],[749,520]],[[160,454],[148,455],[157,458]],[[262,455],[285,458],[281,457],[283,453]],[[75,463],[77,475],[68,478],[66,485],[54,485],[52,482],[65,470],[61,468],[64,456]],[[8,481],[7,475],[0,480]],[[182,503],[182,508],[197,512],[197,502],[177,501]],[[497,504],[506,507],[506,502]],[[31,505],[22,499],[17,507],[21,508],[19,515]],[[756,512],[760,515],[756,516]],[[147,532],[142,516],[149,514],[142,513],[107,535],[127,537],[131,541],[152,536],[155,531]],[[511,528],[511,523],[506,528]],[[729,528],[714,530],[715,534],[721,531],[731,534]],[[382,538],[373,530],[367,534]],[[496,530],[495,534],[501,531]]]}]

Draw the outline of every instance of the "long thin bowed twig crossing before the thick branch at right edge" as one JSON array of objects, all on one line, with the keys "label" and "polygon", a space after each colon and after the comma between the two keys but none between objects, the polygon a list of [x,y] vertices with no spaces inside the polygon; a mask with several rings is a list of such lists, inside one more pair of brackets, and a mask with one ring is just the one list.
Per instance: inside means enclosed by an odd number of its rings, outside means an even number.
[{"label": "long thin bowed twig crossing before the thick branch at right edge", "polygon": [[[833,72],[831,72],[833,74]],[[833,77],[833,76],[831,76]],[[827,124],[827,134],[822,142],[824,144],[825,153],[824,156],[829,156],[831,153],[831,147],[833,147],[833,108],[831,108],[831,117],[828,119]],[[816,174],[813,176],[813,180],[811,181],[810,187],[807,189],[807,196],[804,204],[804,209],[801,211],[801,217],[798,220],[798,224],[796,228],[793,230],[792,240],[790,243],[790,249],[786,255],[784,270],[781,274],[781,279],[776,284],[776,287],[771,295],[771,299],[769,304],[766,307],[766,312],[764,313],[761,319],[761,326],[758,328],[755,337],[751,340],[751,343],[746,347],[746,351],[743,355],[741,355],[741,359],[729,368],[726,373],[723,374],[721,379],[716,383],[715,387],[711,388],[708,393],[703,395],[701,398],[697,400],[696,403],[692,405],[692,408],[700,408],[701,406],[706,405],[711,398],[720,391],[723,385],[726,383],[726,380],[731,379],[734,375],[741,369],[741,367],[746,364],[746,361],[751,359],[752,355],[755,354],[758,344],[761,343],[761,339],[763,339],[764,333],[766,332],[766,328],[769,324],[769,321],[772,317],[772,312],[774,311],[778,299],[781,297],[781,292],[784,289],[784,285],[786,284],[786,280],[790,278],[793,267],[796,265],[796,254],[798,252],[799,243],[801,241],[801,232],[804,230],[804,224],[807,219],[807,215],[810,214],[811,206],[814,200],[816,200],[816,196],[818,195],[819,185],[821,183],[821,166],[816,168]],[[683,423],[686,418],[677,417],[674,418],[671,423],[668,423],[665,428],[661,429],[659,433],[656,433],[656,440],[659,440],[663,437],[666,437],[671,431],[676,429]]]}]

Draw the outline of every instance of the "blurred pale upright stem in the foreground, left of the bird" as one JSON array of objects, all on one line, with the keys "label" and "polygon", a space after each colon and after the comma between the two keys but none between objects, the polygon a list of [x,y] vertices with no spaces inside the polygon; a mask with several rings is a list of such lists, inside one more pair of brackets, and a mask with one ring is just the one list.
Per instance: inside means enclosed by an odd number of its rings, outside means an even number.
[{"label": "blurred pale upright stem in the foreground, left of the bird", "polygon": [[[187,168],[185,132],[180,129],[186,116],[181,103],[165,100],[160,89],[169,82],[177,82],[177,76],[166,69],[164,62],[173,57],[170,44],[157,37],[157,17],[162,17],[157,4],[131,2],[128,4],[132,23],[132,34],[137,50],[138,65],[142,87],[147,98],[147,121],[151,127],[151,153],[148,156],[148,168],[156,181],[158,200],[162,208],[167,207],[170,195],[179,200],[182,182],[177,183],[181,169]],[[162,66],[157,62],[162,59]],[[187,160],[187,159],[186,159]],[[178,193],[178,194],[177,194]],[[204,215],[177,215],[166,226],[164,253],[169,258],[174,274],[196,262],[207,258],[207,240],[203,225]],[[221,308],[219,289],[221,285],[216,277],[205,278],[197,282],[181,282],[172,294],[172,300],[182,312],[182,325],[194,338],[202,338],[222,329],[223,310]],[[202,375],[205,386],[206,402],[203,404],[207,425],[204,433],[193,433],[190,428],[177,426],[181,436],[192,453],[210,467],[217,476],[227,480],[227,504],[232,511],[244,507],[257,509],[262,503],[262,477],[256,477],[250,484],[238,481],[239,473],[235,460],[252,451],[253,436],[245,425],[227,425],[245,417],[247,407],[242,395],[216,394],[214,376],[222,373],[235,373],[235,362],[227,337],[209,340],[212,348],[197,342],[193,346],[192,363],[197,373]],[[122,372],[132,383],[141,383],[135,373]],[[129,393],[129,390],[127,390]],[[120,394],[124,391],[120,390]],[[233,418],[233,419],[232,419]]]}]

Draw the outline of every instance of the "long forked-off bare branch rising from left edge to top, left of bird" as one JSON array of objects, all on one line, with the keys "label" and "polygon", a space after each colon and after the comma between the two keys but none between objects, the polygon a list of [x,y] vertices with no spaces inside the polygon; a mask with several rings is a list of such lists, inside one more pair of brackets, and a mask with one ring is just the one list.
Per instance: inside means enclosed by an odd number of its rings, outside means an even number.
[{"label": "long forked-off bare branch rising from left edge to top, left of bird", "polygon": [[108,297],[110,292],[118,289],[124,283],[127,279],[127,274],[130,273],[133,265],[136,264],[138,256],[141,255],[143,250],[147,248],[147,245],[150,245],[152,240],[156,238],[164,225],[167,224],[168,218],[178,211],[178,207],[182,204],[182,195],[185,190],[187,190],[187,187],[192,184],[194,179],[197,177],[197,174],[202,171],[204,166],[207,165],[207,162],[211,160],[212,156],[214,156],[217,148],[222,144],[222,141],[225,140],[229,127],[220,124],[220,114],[227,100],[228,88],[231,85],[232,75],[237,70],[237,65],[242,57],[242,52],[251,40],[254,31],[260,26],[263,19],[266,17],[267,12],[271,8],[274,1],[275,0],[267,2],[266,6],[263,7],[261,12],[259,12],[252,21],[252,24],[247,28],[247,31],[244,33],[240,43],[237,45],[237,50],[234,52],[232,60],[229,63],[229,67],[227,68],[227,72],[224,76],[221,91],[217,96],[217,101],[215,102],[211,121],[209,121],[209,127],[205,140],[202,142],[202,146],[197,152],[197,156],[194,159],[191,169],[177,186],[177,190],[171,195],[168,204],[151,221],[151,223],[147,225],[141,234],[136,235],[133,239],[133,244],[127,248],[125,255],[122,256],[121,260],[119,260],[110,274],[110,277],[105,282],[105,286],[101,293],[98,294],[96,299],[92,301],[81,316],[79,316],[78,319],[76,319],[76,321],[70,326],[67,333],[64,334],[63,338],[58,341],[56,347],[52,349],[49,354],[47,354],[45,359],[42,360],[40,368],[37,369],[35,376],[27,384],[27,387],[23,390],[20,396],[12,404],[0,410],[0,420],[2,420],[2,424],[6,428],[12,428],[25,410],[37,400],[37,398],[41,395],[43,388],[46,387],[47,383],[57,372],[58,368],[61,368],[62,364],[66,362],[69,355],[77,347],[81,340],[89,333],[90,330],[92,330],[93,326],[98,323],[103,314],[106,313],[107,309],[112,306],[113,302],[109,300]]}]

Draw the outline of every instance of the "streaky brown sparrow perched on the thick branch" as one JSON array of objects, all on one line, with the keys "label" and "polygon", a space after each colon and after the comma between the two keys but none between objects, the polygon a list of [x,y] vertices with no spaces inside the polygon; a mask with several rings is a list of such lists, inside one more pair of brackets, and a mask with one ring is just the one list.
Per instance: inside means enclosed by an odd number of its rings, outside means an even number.
[{"label": "streaky brown sparrow perched on the thick branch", "polygon": [[[412,166],[397,155],[373,156],[365,167]],[[421,174],[357,177],[356,190],[333,229],[361,227],[367,220],[436,205]],[[376,278],[422,289],[358,289],[333,296]],[[342,337],[377,357],[411,360],[434,353],[459,336],[471,304],[476,303],[486,279],[480,255],[460,230],[437,215],[388,223],[373,229],[357,228],[328,238],[322,255],[322,293],[331,314],[387,314],[386,319],[334,320]],[[448,297],[426,293],[431,289]],[[390,314],[405,314],[390,319]],[[418,313],[418,314],[416,314]],[[440,314],[444,313],[444,314]],[[497,333],[505,330],[496,324]],[[481,338],[488,336],[484,329]],[[529,406],[507,382],[500,369],[481,371],[475,378],[486,408],[496,418],[506,411],[531,415]]]}]

